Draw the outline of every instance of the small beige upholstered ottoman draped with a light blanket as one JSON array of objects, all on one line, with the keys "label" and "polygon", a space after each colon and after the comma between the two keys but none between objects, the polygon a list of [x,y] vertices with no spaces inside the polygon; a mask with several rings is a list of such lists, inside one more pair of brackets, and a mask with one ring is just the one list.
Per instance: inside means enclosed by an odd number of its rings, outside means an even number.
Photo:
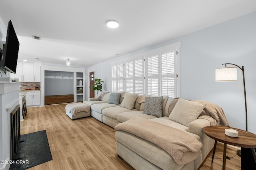
[{"label": "small beige upholstered ottoman draped with a light blanket", "polygon": [[67,104],[65,107],[66,115],[68,115],[72,120],[90,116],[90,109],[91,106],[84,103]]}]

